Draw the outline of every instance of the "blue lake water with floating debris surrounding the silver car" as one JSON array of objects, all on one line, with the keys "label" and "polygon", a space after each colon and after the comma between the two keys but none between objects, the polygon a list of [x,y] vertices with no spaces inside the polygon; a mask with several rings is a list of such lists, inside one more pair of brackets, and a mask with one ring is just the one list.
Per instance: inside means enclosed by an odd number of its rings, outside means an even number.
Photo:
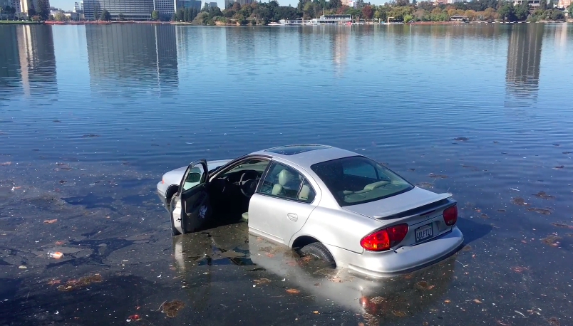
[{"label": "blue lake water with floating debris surrounding the silver car", "polygon": [[[158,325],[158,307],[175,298],[185,302],[175,318],[211,325],[572,322],[570,23],[0,26],[0,45],[0,295],[9,299],[0,322],[111,325],[139,313]],[[302,285],[285,298],[295,285],[284,275],[252,288],[236,264],[178,270],[154,198],[161,174],[293,143],[351,149],[451,192],[468,246],[428,275],[396,279],[370,310]],[[60,221],[36,226],[46,216]],[[87,256],[46,265],[36,251],[58,239]],[[26,263],[35,274],[18,268]],[[175,269],[200,290],[185,293]],[[46,285],[94,271],[104,281],[92,293]],[[390,298],[404,304],[379,305]]]}]

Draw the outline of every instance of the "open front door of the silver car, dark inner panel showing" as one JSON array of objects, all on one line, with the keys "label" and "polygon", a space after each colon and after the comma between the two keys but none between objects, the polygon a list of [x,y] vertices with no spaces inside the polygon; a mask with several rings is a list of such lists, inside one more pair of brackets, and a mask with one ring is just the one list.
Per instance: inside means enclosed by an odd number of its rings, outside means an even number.
[{"label": "open front door of the silver car, dark inner panel showing", "polygon": [[212,208],[207,192],[207,161],[192,162],[185,170],[179,191],[171,200],[171,235],[196,231],[210,219]]}]

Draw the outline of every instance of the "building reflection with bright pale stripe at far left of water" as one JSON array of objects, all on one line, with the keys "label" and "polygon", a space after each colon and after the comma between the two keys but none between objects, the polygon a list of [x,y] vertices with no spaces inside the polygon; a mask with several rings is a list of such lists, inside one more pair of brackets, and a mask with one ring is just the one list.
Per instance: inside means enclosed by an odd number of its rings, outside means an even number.
[{"label": "building reflection with bright pale stripe at far left of water", "polygon": [[21,85],[24,95],[57,92],[51,26],[4,26],[1,40],[0,85]]}]

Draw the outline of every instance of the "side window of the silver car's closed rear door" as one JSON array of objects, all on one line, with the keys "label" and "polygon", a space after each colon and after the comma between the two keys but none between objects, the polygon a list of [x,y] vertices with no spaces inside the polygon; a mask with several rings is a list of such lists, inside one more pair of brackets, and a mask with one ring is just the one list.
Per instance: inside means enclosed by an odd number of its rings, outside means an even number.
[{"label": "side window of the silver car's closed rear door", "polygon": [[314,189],[302,174],[277,162],[269,167],[269,172],[267,172],[257,192],[306,203],[314,201],[314,196],[316,196]]}]

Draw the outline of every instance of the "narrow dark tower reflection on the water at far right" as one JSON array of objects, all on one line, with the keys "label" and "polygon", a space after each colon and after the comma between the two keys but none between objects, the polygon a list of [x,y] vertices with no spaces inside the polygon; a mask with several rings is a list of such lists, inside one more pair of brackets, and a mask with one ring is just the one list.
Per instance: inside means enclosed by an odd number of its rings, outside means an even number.
[{"label": "narrow dark tower reflection on the water at far right", "polygon": [[542,38],[542,24],[512,26],[505,70],[507,95],[514,95],[517,98],[537,98]]}]

